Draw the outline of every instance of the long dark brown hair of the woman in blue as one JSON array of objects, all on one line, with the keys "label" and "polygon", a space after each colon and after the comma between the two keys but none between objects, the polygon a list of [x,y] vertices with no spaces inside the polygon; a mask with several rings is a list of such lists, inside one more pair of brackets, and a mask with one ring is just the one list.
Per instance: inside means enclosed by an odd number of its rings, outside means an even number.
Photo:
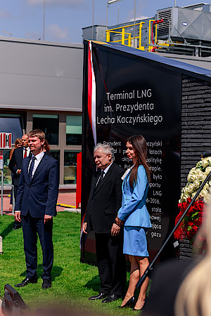
[{"label": "long dark brown hair of the woman in blue", "polygon": [[137,182],[137,172],[139,165],[142,164],[144,169],[146,170],[146,175],[148,178],[148,182],[151,181],[151,170],[150,166],[146,162],[147,158],[147,145],[146,145],[146,139],[142,135],[134,135],[127,139],[127,142],[130,143],[134,149],[137,151],[138,159],[136,161],[136,164],[132,168],[132,171],[130,173],[129,177],[129,185],[130,187],[134,187],[134,184]]}]

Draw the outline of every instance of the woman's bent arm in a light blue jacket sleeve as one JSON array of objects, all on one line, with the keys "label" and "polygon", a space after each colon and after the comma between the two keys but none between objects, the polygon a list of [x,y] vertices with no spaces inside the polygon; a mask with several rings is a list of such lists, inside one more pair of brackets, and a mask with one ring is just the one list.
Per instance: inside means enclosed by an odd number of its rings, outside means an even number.
[{"label": "woman's bent arm in a light blue jacket sleeve", "polygon": [[137,181],[134,187],[134,191],[132,192],[132,196],[129,200],[127,200],[127,204],[122,205],[120,211],[118,212],[118,218],[120,218],[120,220],[125,220],[125,218],[127,218],[127,216],[129,216],[129,214],[132,213],[132,211],[134,211],[136,205],[139,204],[139,202],[141,202],[141,199],[143,199],[144,193],[146,191],[147,185],[148,178],[146,176],[146,171],[144,167],[141,165],[139,166],[137,171]]}]

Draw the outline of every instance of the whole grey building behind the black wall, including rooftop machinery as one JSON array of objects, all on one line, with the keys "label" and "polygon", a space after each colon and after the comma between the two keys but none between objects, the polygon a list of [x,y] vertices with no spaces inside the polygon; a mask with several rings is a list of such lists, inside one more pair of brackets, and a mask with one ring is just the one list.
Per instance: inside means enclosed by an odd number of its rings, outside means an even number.
[{"label": "whole grey building behind the black wall, including rooftop machinery", "polygon": [[[158,10],[145,20],[83,29],[83,39],[113,41],[211,70],[211,6]],[[0,37],[1,131],[15,139],[43,129],[60,162],[60,187],[75,188],[82,150],[83,44]],[[9,150],[4,184],[11,185]]]}]

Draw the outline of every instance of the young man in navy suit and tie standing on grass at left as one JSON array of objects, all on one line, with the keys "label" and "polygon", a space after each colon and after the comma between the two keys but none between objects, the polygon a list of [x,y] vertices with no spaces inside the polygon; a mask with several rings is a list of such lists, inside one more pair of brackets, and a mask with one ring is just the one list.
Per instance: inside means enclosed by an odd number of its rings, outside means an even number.
[{"label": "young man in navy suit and tie standing on grass at left", "polygon": [[15,220],[22,221],[27,275],[15,287],[37,283],[37,233],[43,251],[42,288],[51,287],[53,266],[52,228],[56,216],[59,166],[56,159],[43,151],[45,134],[37,129],[29,134],[31,157],[23,159],[18,195],[15,204]]}]

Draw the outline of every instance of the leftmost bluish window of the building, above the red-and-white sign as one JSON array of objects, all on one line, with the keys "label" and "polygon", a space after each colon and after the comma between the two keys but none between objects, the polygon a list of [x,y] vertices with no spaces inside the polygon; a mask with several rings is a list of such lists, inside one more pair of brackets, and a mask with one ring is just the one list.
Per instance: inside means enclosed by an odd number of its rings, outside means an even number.
[{"label": "leftmost bluish window of the building, above the red-and-white sign", "polygon": [[12,133],[12,143],[23,136],[20,114],[0,113],[0,126],[1,132]]}]

